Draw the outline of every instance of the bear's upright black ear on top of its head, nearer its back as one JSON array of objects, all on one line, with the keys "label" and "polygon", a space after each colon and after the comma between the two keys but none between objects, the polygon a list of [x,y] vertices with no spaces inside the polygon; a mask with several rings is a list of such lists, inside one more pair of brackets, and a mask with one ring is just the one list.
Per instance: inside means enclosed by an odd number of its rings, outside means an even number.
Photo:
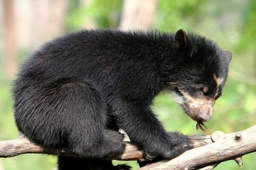
[{"label": "bear's upright black ear on top of its head, nearer its back", "polygon": [[187,57],[191,58],[193,55],[190,39],[183,29],[179,29],[174,35],[174,48],[177,52]]}]

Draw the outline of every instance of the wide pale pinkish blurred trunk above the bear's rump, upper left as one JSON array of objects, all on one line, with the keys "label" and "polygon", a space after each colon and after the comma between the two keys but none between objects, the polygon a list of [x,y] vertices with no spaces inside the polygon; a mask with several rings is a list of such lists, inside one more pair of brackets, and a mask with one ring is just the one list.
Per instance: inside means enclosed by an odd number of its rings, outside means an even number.
[{"label": "wide pale pinkish blurred trunk above the bear's rump, upper left", "polygon": [[32,5],[32,43],[38,47],[64,32],[68,0],[29,0]]}]

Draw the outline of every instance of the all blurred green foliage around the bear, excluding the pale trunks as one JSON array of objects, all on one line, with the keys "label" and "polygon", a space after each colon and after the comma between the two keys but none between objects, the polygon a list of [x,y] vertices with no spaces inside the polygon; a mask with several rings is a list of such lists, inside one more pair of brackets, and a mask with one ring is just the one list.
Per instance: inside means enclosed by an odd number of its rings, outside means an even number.
[{"label": "all blurred green foliage around the bear, excluding the pale trunks", "polygon": [[[97,28],[117,28],[122,5],[121,0],[88,0],[87,4],[70,0],[66,32],[78,30],[88,23],[93,23]],[[159,0],[154,28],[169,32],[183,28],[205,35],[221,48],[232,51],[233,59],[223,96],[216,102],[212,120],[206,126],[212,131],[230,133],[256,124],[256,85],[252,83],[256,78],[255,0]],[[27,49],[21,51],[17,61],[23,60],[28,53]],[[237,72],[244,76],[237,77]],[[14,139],[18,135],[10,89],[11,81],[5,75],[0,75],[0,140]],[[152,109],[168,131],[202,134],[196,130],[196,123],[183,113],[168,94],[157,96]],[[243,160],[244,170],[256,169],[256,153],[243,156]],[[138,168],[135,161],[125,163]],[[1,159],[1,166],[4,170],[50,170],[56,167],[56,157],[23,155]],[[238,169],[234,161],[221,163],[216,168]]]}]

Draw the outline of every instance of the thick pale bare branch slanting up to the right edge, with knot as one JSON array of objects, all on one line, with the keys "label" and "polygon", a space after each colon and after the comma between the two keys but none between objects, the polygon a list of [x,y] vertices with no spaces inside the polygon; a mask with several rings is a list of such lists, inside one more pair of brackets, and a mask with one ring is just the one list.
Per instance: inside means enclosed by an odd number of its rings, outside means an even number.
[{"label": "thick pale bare branch slanting up to the right edge, with knot", "polygon": [[241,166],[241,156],[256,151],[256,125],[241,132],[219,137],[221,139],[217,138],[211,144],[188,150],[174,159],[152,163],[139,170],[199,169],[231,159],[235,159]]}]

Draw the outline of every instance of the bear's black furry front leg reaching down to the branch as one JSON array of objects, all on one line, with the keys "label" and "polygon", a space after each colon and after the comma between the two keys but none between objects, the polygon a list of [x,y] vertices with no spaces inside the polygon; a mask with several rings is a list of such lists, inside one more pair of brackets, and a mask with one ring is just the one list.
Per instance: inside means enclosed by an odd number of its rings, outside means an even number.
[{"label": "bear's black furry front leg reaching down to the branch", "polygon": [[149,106],[120,100],[112,108],[117,126],[124,129],[132,142],[142,145],[149,157],[173,158],[193,148],[188,136],[167,133]]}]

